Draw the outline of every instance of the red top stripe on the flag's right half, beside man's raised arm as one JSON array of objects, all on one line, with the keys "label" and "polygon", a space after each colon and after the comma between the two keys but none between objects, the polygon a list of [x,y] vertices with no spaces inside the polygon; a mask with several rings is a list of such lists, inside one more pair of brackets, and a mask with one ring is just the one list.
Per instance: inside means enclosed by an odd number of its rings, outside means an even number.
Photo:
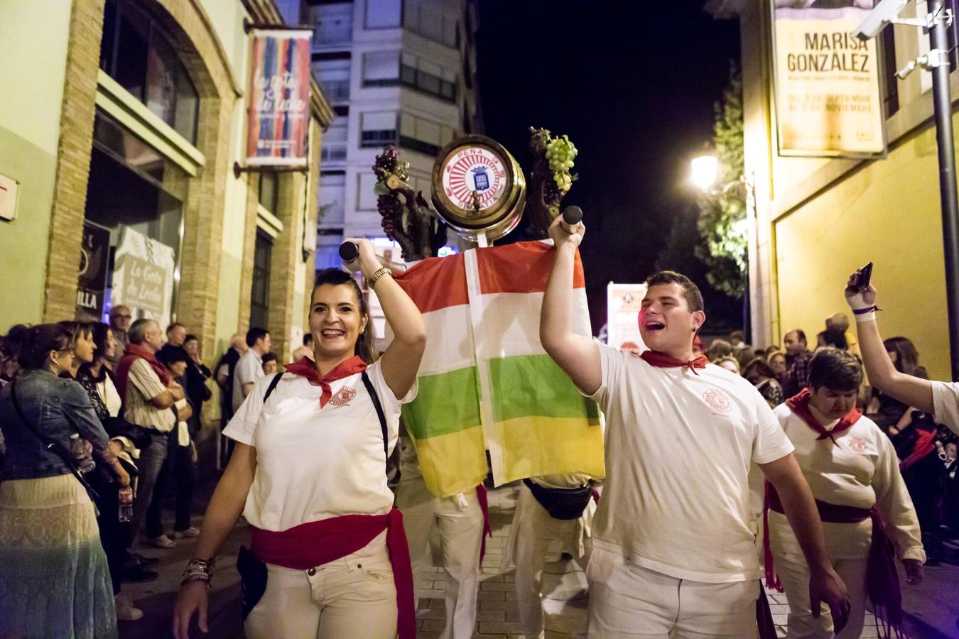
[{"label": "red top stripe on the flag's right half, beside man's raised arm", "polygon": [[[538,293],[546,290],[553,248],[541,241],[520,241],[477,249],[481,293]],[[576,251],[573,288],[584,288],[583,262]]]}]

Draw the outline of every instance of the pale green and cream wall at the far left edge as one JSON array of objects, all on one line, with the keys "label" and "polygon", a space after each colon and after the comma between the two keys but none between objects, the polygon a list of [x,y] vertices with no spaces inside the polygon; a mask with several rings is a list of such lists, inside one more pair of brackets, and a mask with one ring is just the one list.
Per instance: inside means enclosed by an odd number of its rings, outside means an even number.
[{"label": "pale green and cream wall at the far left edge", "polygon": [[0,2],[0,173],[19,183],[0,220],[0,332],[43,314],[70,0]]}]

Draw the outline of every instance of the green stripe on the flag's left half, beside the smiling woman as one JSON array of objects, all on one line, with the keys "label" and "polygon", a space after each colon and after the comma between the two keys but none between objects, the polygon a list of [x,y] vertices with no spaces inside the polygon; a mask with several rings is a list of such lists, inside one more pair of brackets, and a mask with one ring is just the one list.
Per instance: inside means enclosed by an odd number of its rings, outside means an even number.
[{"label": "green stripe on the flag's left half, beside the smiling woman", "polygon": [[403,423],[417,440],[479,426],[476,366],[421,376],[416,399],[403,406]]}]

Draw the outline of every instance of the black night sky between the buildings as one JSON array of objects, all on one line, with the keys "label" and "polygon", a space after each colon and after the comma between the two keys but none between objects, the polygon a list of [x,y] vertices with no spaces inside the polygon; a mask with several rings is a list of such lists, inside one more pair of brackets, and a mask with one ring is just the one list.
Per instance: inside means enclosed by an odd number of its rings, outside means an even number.
[{"label": "black night sky between the buildings", "polygon": [[[643,282],[673,218],[695,215],[689,161],[712,138],[713,104],[739,58],[737,22],[713,20],[703,4],[479,0],[486,135],[527,178],[527,126],[566,133],[579,150],[563,202],[584,212],[594,331],[606,320],[606,283]],[[503,241],[529,239],[525,222]],[[713,305],[710,323],[736,322],[736,308]]]}]

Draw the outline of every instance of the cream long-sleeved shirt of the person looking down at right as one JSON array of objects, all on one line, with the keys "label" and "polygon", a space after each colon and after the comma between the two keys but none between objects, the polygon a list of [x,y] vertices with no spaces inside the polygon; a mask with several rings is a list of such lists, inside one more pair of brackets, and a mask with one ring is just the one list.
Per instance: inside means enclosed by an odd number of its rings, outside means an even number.
[{"label": "cream long-sleeved shirt of the person looking down at right", "polygon": [[[925,560],[919,520],[902,481],[896,448],[876,422],[860,417],[848,429],[833,435],[833,444],[828,439],[817,439],[819,433],[785,404],[773,412],[796,446],[796,461],[813,497],[837,506],[877,506],[899,558]],[[837,423],[839,420],[833,420],[824,427],[832,432]],[[832,559],[868,557],[872,531],[873,522],[868,518],[855,524],[823,522]],[[775,541],[774,548],[803,552],[784,514],[769,512],[769,535]]]}]

